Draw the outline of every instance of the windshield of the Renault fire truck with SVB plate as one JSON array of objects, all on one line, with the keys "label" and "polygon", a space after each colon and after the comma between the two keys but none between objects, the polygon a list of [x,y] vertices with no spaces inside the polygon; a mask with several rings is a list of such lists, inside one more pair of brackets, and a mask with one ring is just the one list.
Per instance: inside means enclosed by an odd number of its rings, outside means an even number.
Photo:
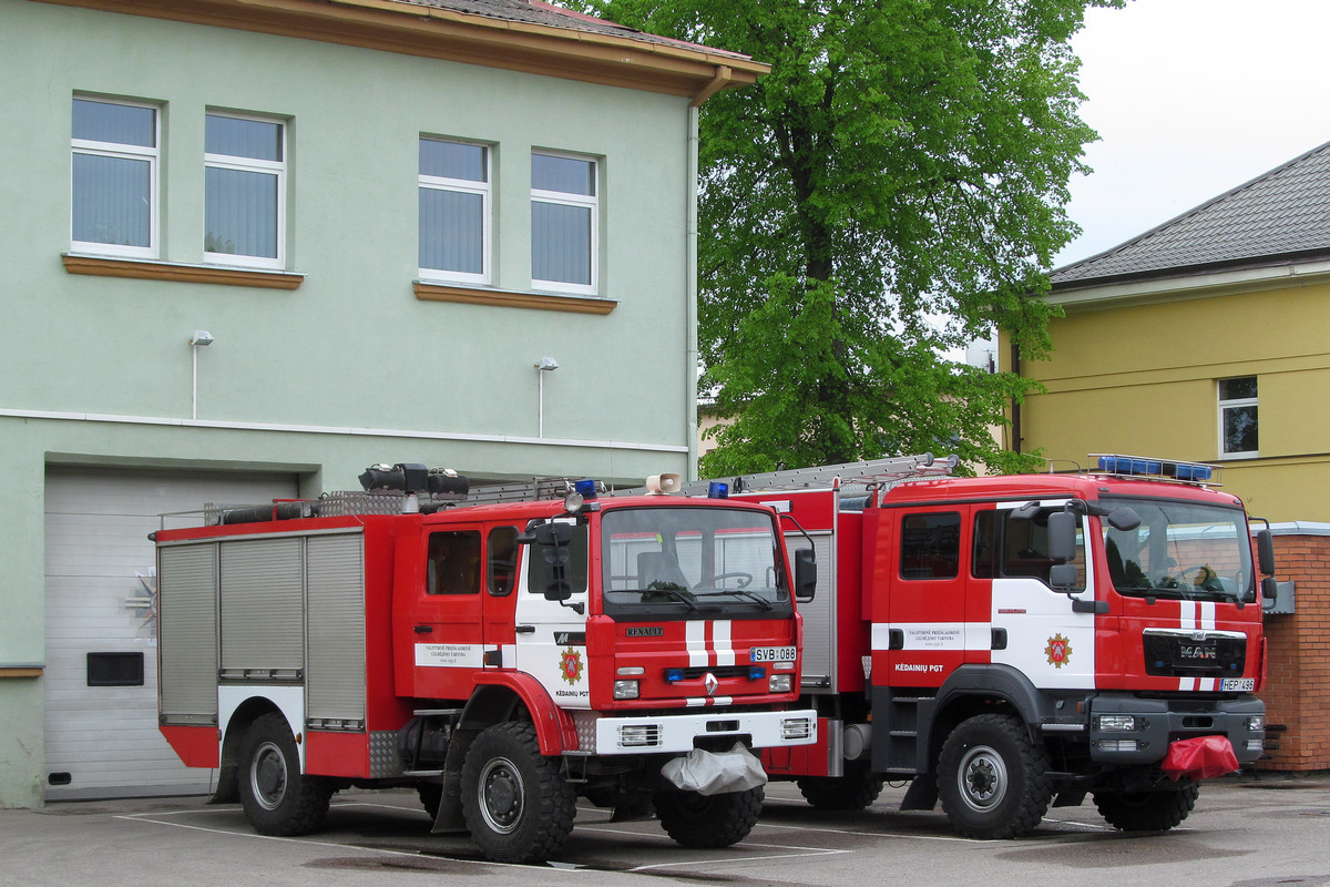
[{"label": "windshield of the Renault fire truck with SVB plate", "polygon": [[617,618],[789,616],[770,515],[625,508],[601,517],[605,613]]}]

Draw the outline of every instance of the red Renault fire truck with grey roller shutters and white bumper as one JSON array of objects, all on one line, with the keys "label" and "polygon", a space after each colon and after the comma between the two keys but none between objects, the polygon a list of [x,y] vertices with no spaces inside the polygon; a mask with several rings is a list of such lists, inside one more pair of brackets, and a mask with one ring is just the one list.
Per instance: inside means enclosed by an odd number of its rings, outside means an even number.
[{"label": "red Renault fire truck with grey roller shutters and white bumper", "polygon": [[466,479],[414,464],[360,480],[153,535],[161,731],[259,832],[318,828],[343,787],[415,786],[435,831],[495,860],[557,852],[576,795],[724,847],[761,811],[749,749],[817,739],[790,710],[815,567],[769,505],[592,481],[459,503]]}]

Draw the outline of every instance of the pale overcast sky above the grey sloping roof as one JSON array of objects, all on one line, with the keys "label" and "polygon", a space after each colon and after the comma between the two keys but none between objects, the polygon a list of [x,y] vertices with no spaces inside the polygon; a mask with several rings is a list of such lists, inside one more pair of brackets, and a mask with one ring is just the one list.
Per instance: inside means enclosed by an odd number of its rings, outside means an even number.
[{"label": "pale overcast sky above the grey sloping roof", "polygon": [[1073,48],[1100,141],[1072,181],[1073,262],[1330,141],[1330,1],[1129,0]]}]

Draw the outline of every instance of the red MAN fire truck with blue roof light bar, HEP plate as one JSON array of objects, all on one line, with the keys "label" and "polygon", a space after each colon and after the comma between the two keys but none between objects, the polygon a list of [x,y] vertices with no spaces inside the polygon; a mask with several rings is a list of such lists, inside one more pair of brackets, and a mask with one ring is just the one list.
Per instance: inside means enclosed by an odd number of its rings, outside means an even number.
[{"label": "red MAN fire truck with blue roof light bar, HEP plate", "polygon": [[[771,778],[823,809],[911,781],[904,810],[940,798],[960,834],[1008,838],[1087,794],[1119,828],[1172,828],[1198,779],[1260,758],[1274,580],[1258,592],[1242,503],[1210,465],[1095,457],[1076,475],[950,477],[955,456],[924,455],[737,479],[821,573],[801,608],[819,741],[767,750]],[[1270,576],[1269,529],[1257,540]]]}]

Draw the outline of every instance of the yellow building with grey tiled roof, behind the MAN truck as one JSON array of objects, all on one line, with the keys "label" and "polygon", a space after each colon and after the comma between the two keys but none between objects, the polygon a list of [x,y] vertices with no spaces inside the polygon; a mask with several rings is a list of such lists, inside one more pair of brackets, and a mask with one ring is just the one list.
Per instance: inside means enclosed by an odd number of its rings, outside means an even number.
[{"label": "yellow building with grey tiled roof, behind the MAN truck", "polygon": [[[1216,463],[1273,521],[1330,521],[1330,145],[1059,269],[1047,390],[1011,444]],[[1019,362],[1019,367],[1012,367]],[[1073,464],[1075,463],[1075,464]]]}]

